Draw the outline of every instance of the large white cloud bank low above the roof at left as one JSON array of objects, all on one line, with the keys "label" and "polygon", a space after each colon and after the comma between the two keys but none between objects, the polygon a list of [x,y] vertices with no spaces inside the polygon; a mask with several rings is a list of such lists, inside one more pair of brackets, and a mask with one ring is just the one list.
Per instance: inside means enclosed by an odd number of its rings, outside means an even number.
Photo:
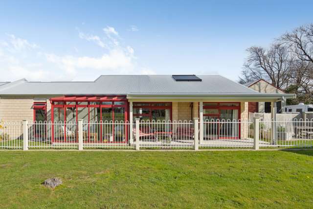
[{"label": "large white cloud bank low above the roof at left", "polygon": [[5,40],[0,40],[0,81],[21,78],[30,81],[94,80],[100,74],[155,74],[153,70],[137,64],[134,48],[120,44],[118,40],[122,39],[113,27],[107,26],[103,31],[103,37],[78,33],[81,40],[100,47],[100,51],[94,50],[92,55],[83,53],[92,51],[93,45],[84,46],[88,50],[80,48],[79,44],[64,46],[72,48],[73,53],[62,54],[48,52],[28,40],[8,35]]}]

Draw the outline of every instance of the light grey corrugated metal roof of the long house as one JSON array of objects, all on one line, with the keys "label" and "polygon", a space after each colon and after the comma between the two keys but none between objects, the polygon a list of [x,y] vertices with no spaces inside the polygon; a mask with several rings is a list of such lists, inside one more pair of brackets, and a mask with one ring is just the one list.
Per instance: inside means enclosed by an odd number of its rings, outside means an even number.
[{"label": "light grey corrugated metal roof of the long house", "polygon": [[175,81],[172,75],[101,75],[93,82],[28,82],[0,86],[0,95],[105,94],[258,94],[221,75],[197,75],[202,81]]}]

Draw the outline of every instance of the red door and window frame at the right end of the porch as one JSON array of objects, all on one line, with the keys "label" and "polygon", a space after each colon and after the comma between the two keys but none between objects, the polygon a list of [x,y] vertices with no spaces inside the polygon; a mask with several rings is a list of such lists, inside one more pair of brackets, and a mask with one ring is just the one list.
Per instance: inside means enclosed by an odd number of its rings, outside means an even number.
[{"label": "red door and window frame at the right end of the porch", "polygon": [[[237,106],[221,106],[223,103],[238,104]],[[215,106],[205,106],[205,104],[217,104]],[[221,110],[238,110],[238,119],[241,119],[241,106],[240,102],[203,102],[203,109],[217,109],[219,114],[203,114],[203,116],[218,116],[221,117]],[[240,139],[241,131],[238,132],[238,137],[221,137],[220,136],[220,123],[218,123],[218,136],[219,139]],[[239,123],[239,130],[241,130],[241,124]]]}]

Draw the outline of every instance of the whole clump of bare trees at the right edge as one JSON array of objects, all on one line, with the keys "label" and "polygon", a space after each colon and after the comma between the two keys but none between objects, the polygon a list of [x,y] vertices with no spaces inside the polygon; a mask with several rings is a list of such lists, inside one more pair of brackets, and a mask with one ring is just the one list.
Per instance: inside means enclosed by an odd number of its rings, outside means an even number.
[{"label": "whole clump of bare trees at the right edge", "polygon": [[269,49],[247,49],[240,83],[263,78],[286,93],[296,93],[289,104],[313,102],[313,24],[286,32]]}]

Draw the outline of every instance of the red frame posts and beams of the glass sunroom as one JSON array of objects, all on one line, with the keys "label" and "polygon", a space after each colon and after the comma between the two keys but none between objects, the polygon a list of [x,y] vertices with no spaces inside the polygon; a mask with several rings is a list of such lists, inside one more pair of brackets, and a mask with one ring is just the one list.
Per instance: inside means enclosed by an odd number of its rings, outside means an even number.
[{"label": "red frame posts and beams of the glass sunroom", "polygon": [[[55,102],[62,102],[63,104],[55,104]],[[67,104],[75,102],[75,104]],[[79,102],[87,102],[87,104],[79,104]],[[91,102],[99,102],[99,104],[90,104]],[[111,105],[108,104],[102,104],[102,102],[112,102]],[[124,105],[114,104],[115,102],[124,102]],[[89,95],[89,96],[60,96],[60,97],[54,97],[50,99],[51,103],[51,120],[54,122],[54,108],[62,108],[64,109],[64,140],[66,140],[66,110],[70,107],[75,107],[76,110],[76,124],[78,124],[78,108],[88,108],[88,121],[90,121],[90,107],[94,108],[100,108],[100,118],[102,119],[102,108],[118,108],[118,107],[124,107],[124,121],[128,121],[128,102],[126,99],[126,95],[108,95],[108,96],[95,96],[95,95]],[[112,135],[114,139],[114,111],[112,112],[112,118],[113,118],[113,124],[112,124]],[[125,125],[125,138],[126,141],[124,143],[127,143],[128,141],[128,129],[127,125]],[[78,135],[78,132],[76,133],[76,136]],[[77,142],[76,137],[76,142]],[[90,124],[88,123],[88,140],[90,141]],[[102,124],[100,124],[100,142],[102,141]],[[54,126],[52,126],[52,142],[54,141]],[[113,143],[121,143],[119,141],[113,141]]]}]

